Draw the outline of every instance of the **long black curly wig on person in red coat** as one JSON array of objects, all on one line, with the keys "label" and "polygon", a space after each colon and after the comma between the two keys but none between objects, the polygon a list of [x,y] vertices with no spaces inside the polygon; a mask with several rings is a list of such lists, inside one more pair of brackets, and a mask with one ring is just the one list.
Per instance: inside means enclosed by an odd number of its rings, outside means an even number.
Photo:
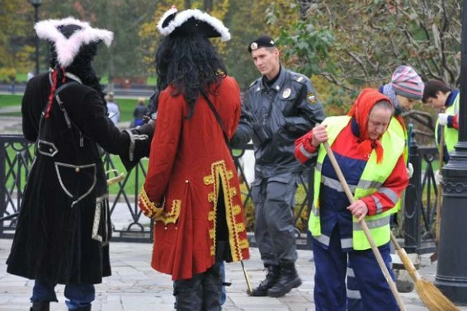
[{"label": "long black curly wig on person in red coat", "polygon": [[[186,118],[193,116],[200,90],[214,94],[227,74],[224,62],[208,38],[203,36],[166,36],[156,52],[157,88],[175,87],[189,106]],[[215,87],[210,87],[214,85]]]}]

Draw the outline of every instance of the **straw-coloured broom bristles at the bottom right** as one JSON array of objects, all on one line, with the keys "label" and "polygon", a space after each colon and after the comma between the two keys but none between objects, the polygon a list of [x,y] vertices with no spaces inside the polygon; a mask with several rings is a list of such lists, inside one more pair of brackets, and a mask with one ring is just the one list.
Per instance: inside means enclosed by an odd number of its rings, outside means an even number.
[{"label": "straw-coloured broom bristles at the bottom right", "polygon": [[419,279],[415,282],[415,291],[430,311],[460,311],[448,297],[431,282]]}]

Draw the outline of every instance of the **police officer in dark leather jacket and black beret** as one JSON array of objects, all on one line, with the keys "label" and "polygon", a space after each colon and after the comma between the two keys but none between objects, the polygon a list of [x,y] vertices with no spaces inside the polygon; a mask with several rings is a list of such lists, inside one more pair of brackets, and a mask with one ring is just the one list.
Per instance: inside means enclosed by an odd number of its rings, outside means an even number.
[{"label": "police officer in dark leather jacket and black beret", "polygon": [[262,76],[246,94],[232,144],[254,143],[255,240],[268,270],[253,296],[279,297],[302,284],[295,270],[297,251],[292,208],[302,165],[294,140],[324,119],[311,81],[281,66],[275,41],[266,35],[248,47]]}]

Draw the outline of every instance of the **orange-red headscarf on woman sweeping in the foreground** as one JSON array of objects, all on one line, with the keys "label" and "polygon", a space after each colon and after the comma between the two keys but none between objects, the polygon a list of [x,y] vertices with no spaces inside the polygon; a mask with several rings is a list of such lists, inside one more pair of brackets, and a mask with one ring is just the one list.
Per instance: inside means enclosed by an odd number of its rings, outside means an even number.
[{"label": "orange-red headscarf on woman sweeping in the foreground", "polygon": [[391,103],[389,98],[378,92],[376,89],[365,88],[361,91],[347,114],[354,118],[359,125],[360,138],[362,139],[362,142],[358,147],[359,151],[364,155],[369,155],[372,150],[375,149],[377,163],[381,163],[383,160],[383,146],[381,145],[379,138],[370,139],[368,136],[368,119],[370,118],[371,109],[373,109],[373,106],[380,101]]}]

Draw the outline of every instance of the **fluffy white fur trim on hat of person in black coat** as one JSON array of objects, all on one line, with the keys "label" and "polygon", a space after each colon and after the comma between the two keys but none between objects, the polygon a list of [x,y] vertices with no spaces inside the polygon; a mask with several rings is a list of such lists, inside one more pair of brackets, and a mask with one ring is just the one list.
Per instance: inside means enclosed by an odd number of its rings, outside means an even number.
[{"label": "fluffy white fur trim on hat of person in black coat", "polygon": [[[82,29],[77,30],[67,39],[58,31],[57,27],[60,25],[77,25]],[[37,22],[34,28],[39,38],[54,42],[57,61],[62,67],[68,67],[72,64],[74,57],[83,45],[102,40],[107,46],[110,46],[113,40],[111,31],[92,28],[88,22],[73,17],[42,20]]]}]

